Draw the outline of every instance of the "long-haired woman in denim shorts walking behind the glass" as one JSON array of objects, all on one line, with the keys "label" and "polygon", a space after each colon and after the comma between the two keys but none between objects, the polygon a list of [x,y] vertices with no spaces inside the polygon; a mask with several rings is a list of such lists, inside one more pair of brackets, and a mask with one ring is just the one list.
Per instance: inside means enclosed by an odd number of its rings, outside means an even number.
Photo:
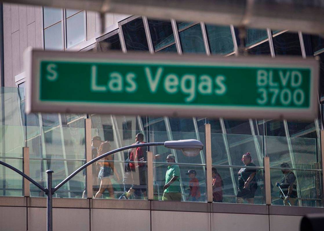
[{"label": "long-haired woman in denim shorts walking behind the glass", "polygon": [[[110,143],[106,141],[100,145],[98,149],[98,156],[101,156],[102,154],[105,154],[110,150],[111,150]],[[97,164],[100,166],[100,171],[98,174],[98,178],[100,180],[100,188],[99,191],[96,193],[95,198],[100,198],[106,189],[108,189],[110,197],[114,198],[114,189],[112,187],[111,180],[110,180],[111,170],[114,172],[117,181],[119,181],[118,173],[117,171],[115,171],[114,168],[114,162],[108,162],[105,160],[113,160],[113,156],[111,155],[106,156],[97,162]]]}]

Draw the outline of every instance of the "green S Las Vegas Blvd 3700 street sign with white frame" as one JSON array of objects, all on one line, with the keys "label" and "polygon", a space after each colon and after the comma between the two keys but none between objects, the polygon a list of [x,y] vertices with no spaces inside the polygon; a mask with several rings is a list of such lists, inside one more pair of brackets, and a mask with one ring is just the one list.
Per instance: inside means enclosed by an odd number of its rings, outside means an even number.
[{"label": "green S Las Vegas Blvd 3700 street sign with white frame", "polygon": [[318,61],[29,51],[27,110],[314,119]]}]

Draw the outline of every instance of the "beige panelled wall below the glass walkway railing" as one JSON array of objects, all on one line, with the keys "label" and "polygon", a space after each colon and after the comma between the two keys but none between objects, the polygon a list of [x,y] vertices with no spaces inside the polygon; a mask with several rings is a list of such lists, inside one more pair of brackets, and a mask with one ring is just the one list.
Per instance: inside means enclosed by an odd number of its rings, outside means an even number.
[{"label": "beige panelled wall below the glass walkway railing", "polygon": [[[54,198],[53,207],[54,231],[295,231],[303,215],[324,211],[266,205],[62,198]],[[46,198],[0,197],[0,230],[46,230]]]}]

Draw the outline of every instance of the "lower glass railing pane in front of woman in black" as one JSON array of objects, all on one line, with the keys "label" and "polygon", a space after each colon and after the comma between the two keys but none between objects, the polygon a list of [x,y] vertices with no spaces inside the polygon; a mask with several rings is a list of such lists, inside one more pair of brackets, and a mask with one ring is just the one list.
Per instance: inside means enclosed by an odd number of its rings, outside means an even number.
[{"label": "lower glass railing pane in front of woman in black", "polygon": [[[262,167],[244,169],[213,165],[212,170],[213,202],[265,204]],[[251,174],[254,174],[254,177],[252,175],[253,178],[249,179]],[[244,180],[248,179],[251,182],[245,187]]]}]

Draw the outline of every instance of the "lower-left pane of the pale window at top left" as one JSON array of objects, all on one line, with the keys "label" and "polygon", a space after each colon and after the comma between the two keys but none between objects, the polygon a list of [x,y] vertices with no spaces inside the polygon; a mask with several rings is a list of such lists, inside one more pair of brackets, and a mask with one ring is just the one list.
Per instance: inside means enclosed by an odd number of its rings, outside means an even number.
[{"label": "lower-left pane of the pale window at top left", "polygon": [[61,22],[44,30],[44,46],[45,50],[63,50]]}]

